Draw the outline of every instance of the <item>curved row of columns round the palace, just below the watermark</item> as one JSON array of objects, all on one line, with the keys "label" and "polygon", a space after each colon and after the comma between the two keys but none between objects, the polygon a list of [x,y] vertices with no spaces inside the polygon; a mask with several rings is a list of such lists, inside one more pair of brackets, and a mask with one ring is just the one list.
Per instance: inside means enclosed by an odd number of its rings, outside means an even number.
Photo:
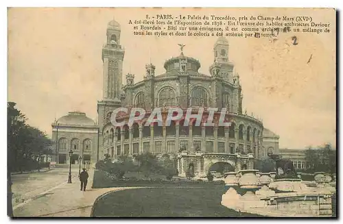
[{"label": "curved row of columns round the palace, just below the watermark", "polygon": [[[218,136],[218,129],[222,127],[211,127],[213,128],[213,135],[206,135],[206,127],[201,126],[201,136],[200,135],[193,135],[193,128],[195,126],[189,126],[188,134],[180,134],[180,124],[176,123],[175,127],[175,135],[169,135],[166,132],[167,127],[162,127],[162,134],[154,134],[154,126],[148,126],[145,128],[150,129],[150,136],[143,137],[143,125],[139,125],[138,132],[139,135],[136,134],[136,138],[133,136],[133,128],[132,126],[128,126],[127,129],[117,127],[111,128],[112,134],[105,133],[104,135],[104,151],[105,153],[110,154],[111,157],[115,157],[117,155],[133,155],[138,153],[144,153],[146,151],[150,151],[152,153],[178,153],[180,147],[185,147],[187,151],[201,151],[202,153],[253,153],[255,158],[261,157],[261,146],[262,146],[262,132],[258,132],[259,134],[252,135],[247,130],[241,131],[239,127],[235,126],[234,129],[234,138],[233,135],[229,136],[229,129],[228,127],[224,127],[224,134],[220,134]],[[222,132],[222,129],[221,129]],[[241,132],[241,134],[239,133]],[[120,135],[120,137],[118,137]],[[230,138],[231,137],[231,138]],[[249,138],[249,139],[248,139]],[[158,141],[161,145],[155,147],[154,143]],[[170,142],[169,142],[170,141]],[[149,144],[147,144],[149,142]],[[167,145],[167,142],[172,143]],[[174,142],[174,143],[173,143]],[[180,144],[182,142],[182,144]],[[187,144],[183,144],[187,142]],[[198,149],[195,147],[194,142],[201,142],[201,147]],[[213,145],[213,149],[209,149],[206,147],[207,142]],[[144,147],[145,143],[145,147]],[[138,149],[135,147],[134,144],[138,144]],[[210,145],[211,145],[210,144]],[[219,147],[224,144],[224,149]],[[146,147],[149,145],[148,147]],[[170,147],[174,149],[170,150]],[[161,149],[160,149],[161,147]],[[158,148],[158,149],[157,149]]]}]

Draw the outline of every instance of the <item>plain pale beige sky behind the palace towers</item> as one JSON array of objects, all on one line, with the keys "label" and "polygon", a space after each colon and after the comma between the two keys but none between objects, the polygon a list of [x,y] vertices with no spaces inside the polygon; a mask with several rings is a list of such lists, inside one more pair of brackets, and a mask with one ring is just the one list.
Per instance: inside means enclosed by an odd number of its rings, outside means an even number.
[{"label": "plain pale beige sky behind the palace towers", "polygon": [[[106,26],[121,24],[125,47],[123,75],[139,82],[145,64],[164,72],[165,60],[185,55],[200,61],[209,75],[216,37],[134,36],[129,20],[146,14],[255,16],[309,15],[331,23],[331,32],[297,33],[268,38],[228,37],[229,60],[243,89],[243,108],[263,119],[263,126],[280,136],[280,148],[305,148],[330,142],[335,147],[336,76],[335,12],[333,10],[176,9],[176,8],[10,8],[8,10],[8,101],[26,114],[28,123],[51,136],[51,123],[79,110],[97,117],[102,99],[102,46]],[[310,62],[308,62],[311,58]],[[123,77],[123,80],[125,78]]]}]

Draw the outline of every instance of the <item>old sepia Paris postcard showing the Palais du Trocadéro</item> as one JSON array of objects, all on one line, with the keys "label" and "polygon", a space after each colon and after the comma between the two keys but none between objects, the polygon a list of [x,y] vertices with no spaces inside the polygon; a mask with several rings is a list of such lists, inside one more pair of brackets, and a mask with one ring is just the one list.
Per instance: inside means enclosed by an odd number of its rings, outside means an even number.
[{"label": "old sepia Paris postcard showing the Palais du Trocad\u00e9ro", "polygon": [[337,217],[333,8],[8,8],[8,216]]}]

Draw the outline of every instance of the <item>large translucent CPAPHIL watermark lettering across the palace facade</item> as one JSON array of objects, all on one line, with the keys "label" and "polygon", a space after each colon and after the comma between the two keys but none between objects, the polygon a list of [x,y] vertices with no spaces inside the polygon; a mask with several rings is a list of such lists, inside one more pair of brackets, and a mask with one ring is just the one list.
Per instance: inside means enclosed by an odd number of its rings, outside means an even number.
[{"label": "large translucent CPAPHIL watermark lettering across the palace facade", "polygon": [[[163,114],[167,113],[167,116]],[[231,123],[226,118],[227,109],[222,108],[218,112],[218,108],[187,108],[182,110],[181,108],[168,108],[167,111],[163,108],[154,108],[151,112],[146,112],[143,108],[117,108],[113,110],[110,121],[115,127],[121,127],[123,125],[132,126],[135,122],[142,121],[145,119],[145,114],[148,114],[145,121],[145,126],[157,124],[158,126],[169,126],[172,121],[183,120],[183,126],[195,125],[195,126],[224,126],[229,127]],[[123,121],[117,121],[119,117],[128,117]],[[165,121],[165,122],[163,122]]]}]

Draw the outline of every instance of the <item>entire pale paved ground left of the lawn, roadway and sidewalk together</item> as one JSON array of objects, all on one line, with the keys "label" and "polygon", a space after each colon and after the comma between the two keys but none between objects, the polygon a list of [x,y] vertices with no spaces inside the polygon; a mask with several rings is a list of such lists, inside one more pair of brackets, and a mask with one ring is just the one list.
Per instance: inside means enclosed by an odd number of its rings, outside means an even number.
[{"label": "entire pale paved ground left of the lawn, roadway and sidewalk together", "polygon": [[67,168],[55,168],[45,173],[12,175],[14,216],[90,216],[97,197],[119,190],[91,189],[93,171],[90,170],[86,192],[80,191],[78,169],[72,169],[72,184],[67,184],[68,172]]}]

